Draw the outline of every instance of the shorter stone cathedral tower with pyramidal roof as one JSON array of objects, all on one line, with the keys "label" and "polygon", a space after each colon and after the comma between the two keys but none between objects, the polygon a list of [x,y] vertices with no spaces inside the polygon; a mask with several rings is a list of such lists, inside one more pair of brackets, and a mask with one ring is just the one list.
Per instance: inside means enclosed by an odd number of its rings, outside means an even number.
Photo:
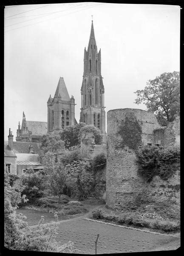
[{"label": "shorter stone cathedral tower with pyramidal roof", "polygon": [[68,94],[63,77],[59,78],[54,98],[48,98],[48,133],[59,133],[69,125],[75,125],[75,99]]}]

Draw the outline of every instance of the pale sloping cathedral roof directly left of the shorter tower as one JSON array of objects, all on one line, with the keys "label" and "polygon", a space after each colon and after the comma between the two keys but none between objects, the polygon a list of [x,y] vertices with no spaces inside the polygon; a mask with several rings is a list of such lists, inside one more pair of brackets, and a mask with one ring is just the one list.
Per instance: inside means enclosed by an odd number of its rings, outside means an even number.
[{"label": "pale sloping cathedral roof directly left of the shorter tower", "polygon": [[26,126],[32,135],[42,136],[47,133],[47,122],[26,121]]}]

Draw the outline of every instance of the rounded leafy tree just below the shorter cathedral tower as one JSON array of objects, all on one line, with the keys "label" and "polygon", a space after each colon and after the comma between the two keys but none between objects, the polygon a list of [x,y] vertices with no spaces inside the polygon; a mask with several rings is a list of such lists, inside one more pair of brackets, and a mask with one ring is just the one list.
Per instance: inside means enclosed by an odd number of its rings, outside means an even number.
[{"label": "rounded leafy tree just below the shorter cathedral tower", "polygon": [[44,153],[58,152],[62,151],[65,148],[64,141],[60,139],[60,136],[57,134],[45,134],[42,136],[40,147],[44,151]]}]

